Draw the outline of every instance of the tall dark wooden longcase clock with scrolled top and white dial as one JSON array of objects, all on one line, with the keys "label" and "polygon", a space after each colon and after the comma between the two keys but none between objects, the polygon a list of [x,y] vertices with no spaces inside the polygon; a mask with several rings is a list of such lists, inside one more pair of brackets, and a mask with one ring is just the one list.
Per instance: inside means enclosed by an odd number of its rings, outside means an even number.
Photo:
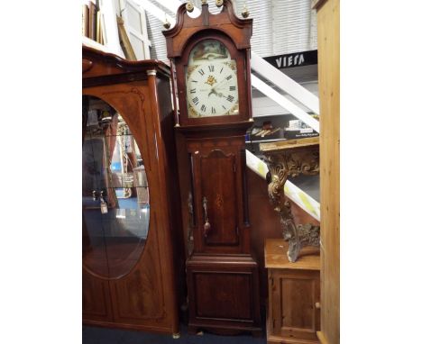
[{"label": "tall dark wooden longcase clock with scrolled top and white dial", "polygon": [[190,331],[261,331],[258,267],[250,249],[244,135],[252,125],[252,19],[197,18],[181,5],[163,32],[173,76]]}]

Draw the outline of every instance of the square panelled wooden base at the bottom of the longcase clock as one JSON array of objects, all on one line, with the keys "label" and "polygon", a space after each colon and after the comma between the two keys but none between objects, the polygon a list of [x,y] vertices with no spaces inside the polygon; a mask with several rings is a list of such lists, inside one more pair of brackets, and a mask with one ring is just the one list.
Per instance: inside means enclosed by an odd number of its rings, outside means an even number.
[{"label": "square panelled wooden base at the bottom of the longcase clock", "polygon": [[261,333],[258,265],[251,256],[197,255],[186,267],[189,332]]}]

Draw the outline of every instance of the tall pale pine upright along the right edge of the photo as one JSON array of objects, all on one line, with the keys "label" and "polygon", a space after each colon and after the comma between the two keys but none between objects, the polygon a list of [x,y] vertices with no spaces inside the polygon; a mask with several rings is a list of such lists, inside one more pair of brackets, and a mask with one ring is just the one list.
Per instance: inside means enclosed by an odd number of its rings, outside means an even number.
[{"label": "tall pale pine upright along the right edge of the photo", "polygon": [[318,28],[321,187],[321,331],[340,342],[340,1],[314,0]]}]

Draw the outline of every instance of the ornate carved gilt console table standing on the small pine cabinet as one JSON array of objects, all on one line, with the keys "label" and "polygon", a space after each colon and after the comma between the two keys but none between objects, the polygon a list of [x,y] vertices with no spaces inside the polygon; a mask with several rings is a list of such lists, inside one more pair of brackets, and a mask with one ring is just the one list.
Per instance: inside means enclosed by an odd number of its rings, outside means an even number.
[{"label": "ornate carved gilt console table standing on the small pine cabinet", "polygon": [[[263,146],[263,144],[261,144]],[[283,225],[283,238],[289,241],[288,258],[290,262],[298,259],[300,249],[305,246],[319,247],[319,226],[310,223],[296,224],[291,213],[291,205],[284,195],[284,185],[288,177],[299,174],[316,175],[319,173],[318,145],[308,147],[278,147],[262,149],[271,173],[268,195],[274,210],[280,213]]]}]

